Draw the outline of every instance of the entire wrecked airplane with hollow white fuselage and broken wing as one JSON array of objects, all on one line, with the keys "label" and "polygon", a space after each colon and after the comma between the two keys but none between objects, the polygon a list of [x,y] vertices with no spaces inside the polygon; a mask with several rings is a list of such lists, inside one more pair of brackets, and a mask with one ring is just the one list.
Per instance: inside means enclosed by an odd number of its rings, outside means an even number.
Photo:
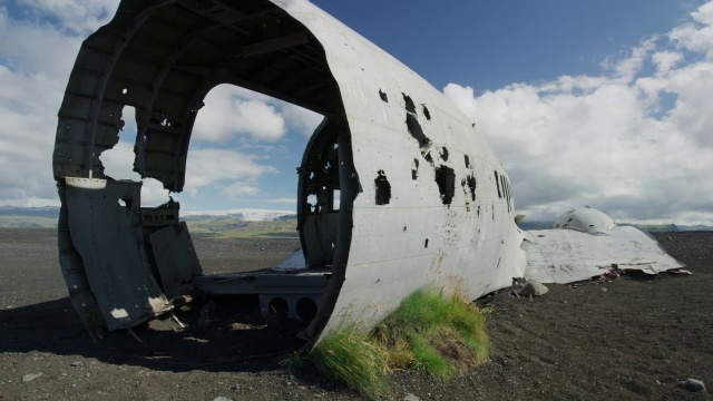
[{"label": "entire wrecked airplane with hollow white fuselage and broken wing", "polygon": [[[272,270],[214,277],[202,274],[179,204],[141,207],[143,183],[108,176],[99,156],[118,143],[123,110],[133,107],[134,170],[182,192],[194,121],[208,91],[224,84],[324,119],[299,167],[302,250]],[[585,252],[569,251],[605,236],[617,242],[602,226],[608,221],[586,211],[564,227],[580,233],[520,231],[507,172],[472,121],[305,0],[123,0],[77,57],[53,174],[60,266],[90,332],[130,329],[203,291],[256,294],[264,313],[309,322],[304,335],[316,340],[343,322],[374,324],[427,285],[475,300],[528,271],[582,280],[548,270],[572,272]],[[587,233],[589,225],[602,235]],[[621,253],[641,251],[632,268],[681,266],[653,245]],[[539,257],[537,266],[528,257]],[[617,258],[588,260],[586,274]]]}]

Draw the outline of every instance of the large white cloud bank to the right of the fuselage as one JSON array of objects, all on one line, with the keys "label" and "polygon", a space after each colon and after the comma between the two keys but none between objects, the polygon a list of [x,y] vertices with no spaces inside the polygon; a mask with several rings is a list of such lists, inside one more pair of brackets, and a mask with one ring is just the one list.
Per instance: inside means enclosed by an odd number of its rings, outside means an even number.
[{"label": "large white cloud bank to the right of the fuselage", "polygon": [[443,92],[487,136],[530,219],[590,205],[618,221],[711,223],[712,25],[709,2],[605,60],[602,76]]}]

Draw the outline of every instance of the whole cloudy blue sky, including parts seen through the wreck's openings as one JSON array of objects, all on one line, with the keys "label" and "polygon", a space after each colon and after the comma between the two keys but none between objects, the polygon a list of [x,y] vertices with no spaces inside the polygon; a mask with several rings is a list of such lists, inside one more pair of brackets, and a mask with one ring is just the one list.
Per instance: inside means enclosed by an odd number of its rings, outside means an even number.
[{"label": "whole cloudy blue sky, including parts seen through the wreck's openings", "polygon": [[[314,2],[477,124],[528,219],[590,205],[617,221],[713,224],[713,2]],[[0,0],[0,206],[58,204],[57,110],[81,40],[117,3]],[[294,211],[295,167],[319,121],[215,88],[176,196],[183,209]],[[101,155],[115,178],[135,177],[135,129]],[[155,182],[145,187],[146,204],[166,199]]]}]

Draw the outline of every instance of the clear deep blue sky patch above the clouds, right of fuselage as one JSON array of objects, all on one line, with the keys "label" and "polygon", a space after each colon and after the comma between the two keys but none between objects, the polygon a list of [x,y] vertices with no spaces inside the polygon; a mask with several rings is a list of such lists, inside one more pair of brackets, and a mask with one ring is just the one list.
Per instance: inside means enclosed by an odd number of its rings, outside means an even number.
[{"label": "clear deep blue sky patch above the clouds, right of fuselage", "polygon": [[313,1],[437,88],[479,90],[595,75],[608,56],[665,33],[702,1]]}]

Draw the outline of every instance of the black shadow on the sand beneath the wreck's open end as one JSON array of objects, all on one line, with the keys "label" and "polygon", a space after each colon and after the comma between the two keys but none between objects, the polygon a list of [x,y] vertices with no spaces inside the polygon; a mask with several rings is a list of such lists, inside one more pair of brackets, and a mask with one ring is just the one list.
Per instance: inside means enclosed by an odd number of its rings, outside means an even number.
[{"label": "black shadow on the sand beneath the wreck's open end", "polygon": [[0,353],[40,351],[173,372],[282,369],[281,361],[304,345],[295,335],[304,324],[267,324],[258,307],[256,297],[194,301],[176,310],[185,327],[163,316],[134,329],[143,343],[126,331],[92,342],[65,297],[0,311]]}]

